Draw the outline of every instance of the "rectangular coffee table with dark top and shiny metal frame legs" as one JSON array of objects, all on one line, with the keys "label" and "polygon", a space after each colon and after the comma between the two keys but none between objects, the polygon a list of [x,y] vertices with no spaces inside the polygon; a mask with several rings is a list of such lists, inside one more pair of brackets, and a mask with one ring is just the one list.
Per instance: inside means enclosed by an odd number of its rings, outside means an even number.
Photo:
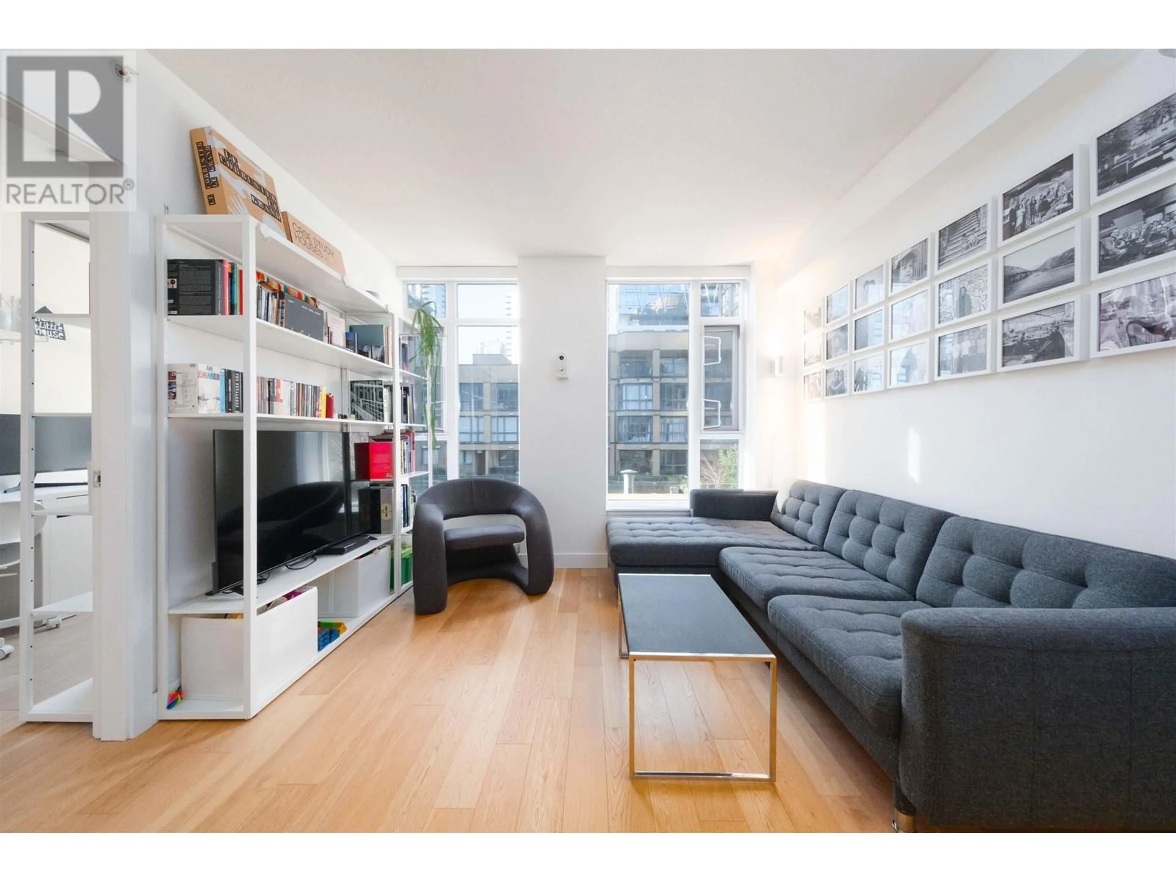
[{"label": "rectangular coffee table with dark top and shiny metal frame legs", "polygon": [[[622,574],[617,649],[629,660],[629,775],[632,777],[776,780],[776,656],[707,575]],[[636,767],[634,670],[639,661],[762,661],[771,668],[768,771],[659,771]]]}]

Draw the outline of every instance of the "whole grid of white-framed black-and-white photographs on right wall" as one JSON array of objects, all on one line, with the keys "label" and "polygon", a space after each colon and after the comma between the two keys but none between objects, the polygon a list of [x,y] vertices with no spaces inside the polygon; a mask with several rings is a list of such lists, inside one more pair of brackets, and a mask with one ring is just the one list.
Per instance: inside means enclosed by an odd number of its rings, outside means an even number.
[{"label": "whole grid of white-framed black-and-white photographs on right wall", "polygon": [[806,310],[806,399],[1176,347],[1176,92],[997,193]]}]

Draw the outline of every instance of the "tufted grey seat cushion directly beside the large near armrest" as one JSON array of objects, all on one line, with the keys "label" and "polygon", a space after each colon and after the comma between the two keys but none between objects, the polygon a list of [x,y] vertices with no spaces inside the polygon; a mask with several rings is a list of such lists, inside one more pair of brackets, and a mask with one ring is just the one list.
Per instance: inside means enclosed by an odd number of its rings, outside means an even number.
[{"label": "tufted grey seat cushion directly beside the large near armrest", "polygon": [[882,733],[902,721],[902,614],[918,601],[776,597],[768,621]]}]

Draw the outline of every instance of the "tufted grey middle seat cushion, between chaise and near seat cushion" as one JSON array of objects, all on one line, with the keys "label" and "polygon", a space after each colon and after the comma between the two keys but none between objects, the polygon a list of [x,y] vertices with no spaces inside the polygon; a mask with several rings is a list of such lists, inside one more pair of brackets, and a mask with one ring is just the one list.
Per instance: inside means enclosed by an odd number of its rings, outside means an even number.
[{"label": "tufted grey middle seat cushion, between chaise and near seat cushion", "polygon": [[774,548],[727,548],[719,568],[760,609],[783,594],[810,594],[860,600],[914,600],[864,569],[828,552]]}]

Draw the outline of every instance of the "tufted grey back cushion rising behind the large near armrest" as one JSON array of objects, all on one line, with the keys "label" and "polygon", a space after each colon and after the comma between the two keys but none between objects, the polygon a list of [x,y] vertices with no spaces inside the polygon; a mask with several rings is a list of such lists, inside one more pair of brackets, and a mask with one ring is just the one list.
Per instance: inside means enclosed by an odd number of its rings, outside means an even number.
[{"label": "tufted grey back cushion rising behind the large near armrest", "polygon": [[935,607],[1176,606],[1176,560],[971,517],[951,517],[918,600]]}]

